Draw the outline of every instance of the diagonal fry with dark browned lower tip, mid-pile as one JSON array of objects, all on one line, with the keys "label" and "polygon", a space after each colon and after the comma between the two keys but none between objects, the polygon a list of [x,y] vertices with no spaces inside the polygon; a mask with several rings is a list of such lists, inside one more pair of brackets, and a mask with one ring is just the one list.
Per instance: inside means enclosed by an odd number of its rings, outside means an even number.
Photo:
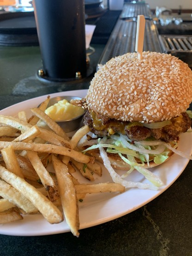
[{"label": "diagonal fry with dark browned lower tip, mid-pile", "polygon": [[41,179],[41,182],[44,188],[48,191],[49,199],[54,202],[60,198],[59,192],[55,186],[54,180],[42,164],[42,161],[38,157],[38,154],[33,151],[27,151],[27,155],[30,159],[31,164],[36,170],[38,176]]}]

